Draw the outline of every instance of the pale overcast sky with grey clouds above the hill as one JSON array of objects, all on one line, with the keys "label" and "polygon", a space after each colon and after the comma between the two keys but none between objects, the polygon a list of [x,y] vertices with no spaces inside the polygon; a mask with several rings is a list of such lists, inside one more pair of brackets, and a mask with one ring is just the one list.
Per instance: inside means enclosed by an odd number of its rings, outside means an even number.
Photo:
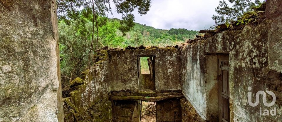
[{"label": "pale overcast sky with grey clouds above the hill", "polygon": [[[185,28],[188,30],[208,29],[214,25],[212,15],[219,0],[152,0],[147,15],[134,11],[135,22],[158,29]],[[114,5],[113,5],[114,8]],[[121,16],[113,11],[114,17]],[[109,16],[110,17],[110,16]]]}]

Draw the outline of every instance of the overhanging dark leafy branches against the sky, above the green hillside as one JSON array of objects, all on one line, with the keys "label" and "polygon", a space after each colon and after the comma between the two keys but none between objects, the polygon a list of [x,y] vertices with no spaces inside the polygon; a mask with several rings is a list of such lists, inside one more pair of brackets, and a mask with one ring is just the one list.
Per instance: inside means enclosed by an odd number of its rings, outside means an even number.
[{"label": "overhanging dark leafy branches against the sky, above the green hillside", "polygon": [[[122,14],[120,27],[118,28],[124,35],[134,26],[134,15],[132,12],[137,9],[140,15],[147,14],[150,10],[151,0],[113,0],[118,14]],[[110,0],[58,0],[58,19],[65,20],[67,24],[71,19],[80,19],[80,8],[85,9],[83,16],[89,18],[93,13],[96,16],[112,15]],[[93,21],[94,22],[94,21]]]}]

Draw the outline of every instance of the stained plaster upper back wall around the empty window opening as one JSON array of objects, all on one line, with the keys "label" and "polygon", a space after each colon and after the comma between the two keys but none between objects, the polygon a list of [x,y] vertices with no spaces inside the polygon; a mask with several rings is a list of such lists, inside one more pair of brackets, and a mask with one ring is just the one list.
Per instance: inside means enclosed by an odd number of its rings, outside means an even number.
[{"label": "stained plaster upper back wall around the empty window opening", "polygon": [[109,51],[106,64],[110,88],[112,91],[138,90],[137,57],[156,56],[155,87],[156,90],[181,90],[181,59],[177,48],[139,49]]}]

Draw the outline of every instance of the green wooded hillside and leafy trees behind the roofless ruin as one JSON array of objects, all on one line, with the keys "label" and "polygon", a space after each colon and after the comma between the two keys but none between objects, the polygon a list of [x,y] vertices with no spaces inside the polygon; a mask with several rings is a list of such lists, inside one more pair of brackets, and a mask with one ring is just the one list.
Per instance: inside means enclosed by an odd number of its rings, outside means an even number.
[{"label": "green wooded hillside and leafy trees behind the roofless ruin", "polygon": [[[76,77],[88,66],[88,56],[93,33],[93,15],[83,15],[77,20],[59,21],[59,39],[61,54],[61,72],[67,79]],[[135,23],[127,33],[119,30],[120,20],[98,17],[97,30],[94,29],[93,48],[109,46],[112,48],[125,48],[127,46],[173,46],[184,43],[187,39],[194,39],[197,31],[187,29],[155,29],[151,26]],[[94,23],[94,26],[95,23]],[[96,44],[97,43],[97,44]],[[95,52],[94,52],[95,53]]]}]

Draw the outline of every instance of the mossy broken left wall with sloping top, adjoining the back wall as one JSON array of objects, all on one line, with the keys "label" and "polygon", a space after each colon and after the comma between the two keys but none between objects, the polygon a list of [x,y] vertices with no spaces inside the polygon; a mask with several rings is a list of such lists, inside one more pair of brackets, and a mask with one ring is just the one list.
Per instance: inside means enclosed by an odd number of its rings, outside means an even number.
[{"label": "mossy broken left wall with sloping top, adjoining the back wall", "polygon": [[107,73],[104,66],[98,65],[91,68],[91,73],[88,69],[70,83],[70,97],[64,98],[66,121],[111,121],[112,102],[108,96]]}]

